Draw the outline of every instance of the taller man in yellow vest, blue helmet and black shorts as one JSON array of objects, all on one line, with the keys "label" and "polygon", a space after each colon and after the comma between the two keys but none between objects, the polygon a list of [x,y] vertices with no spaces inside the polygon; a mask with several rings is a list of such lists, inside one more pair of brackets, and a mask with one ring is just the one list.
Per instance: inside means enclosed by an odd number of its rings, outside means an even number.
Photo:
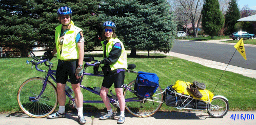
[{"label": "taller man in yellow vest, blue helmet and black shorts", "polygon": [[71,21],[72,10],[68,7],[61,7],[57,10],[60,26],[55,28],[56,47],[51,54],[57,53],[58,65],[56,69],[56,82],[58,93],[59,109],[48,118],[65,117],[66,93],[65,85],[69,77],[71,86],[75,94],[75,105],[77,107],[78,122],[85,124],[83,115],[83,94],[80,90],[79,78],[83,76],[84,59],[84,35],[83,30],[74,26]]}]

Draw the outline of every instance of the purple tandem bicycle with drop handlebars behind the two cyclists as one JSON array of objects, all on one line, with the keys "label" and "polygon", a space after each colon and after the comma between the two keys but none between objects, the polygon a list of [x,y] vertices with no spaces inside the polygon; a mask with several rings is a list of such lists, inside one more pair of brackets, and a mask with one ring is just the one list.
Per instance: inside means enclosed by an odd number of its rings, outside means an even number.
[{"label": "purple tandem bicycle with drop handlebars behind the two cyclists", "polygon": [[[22,111],[27,115],[34,118],[42,118],[53,113],[58,104],[56,87],[51,81],[49,81],[49,79],[51,78],[53,82],[56,83],[56,70],[52,70],[53,64],[49,61],[49,59],[45,57],[36,57],[33,52],[30,52],[30,55],[33,60],[27,61],[27,63],[32,63],[32,67],[35,66],[35,69],[37,71],[45,72],[46,75],[44,78],[35,77],[23,82],[17,92],[17,102]],[[98,61],[94,60],[93,57],[84,58],[84,62],[84,72],[82,78],[80,79],[80,87],[81,89],[99,95],[100,97],[99,88],[96,89],[97,87],[91,88],[89,86],[85,87],[81,83],[83,81],[84,76],[103,77],[103,71],[99,71],[99,66],[95,64]],[[46,66],[46,70],[38,68],[39,64]],[[86,68],[90,66],[94,67],[93,73],[86,72]],[[137,71],[133,71],[134,68],[134,64],[128,64],[128,69],[126,70],[126,73],[137,73]],[[67,82],[70,81],[68,80]],[[148,117],[153,115],[161,108],[163,104],[164,91],[159,86],[157,87],[155,93],[152,96],[141,98],[135,94],[135,82],[136,79],[131,81],[129,84],[123,85],[126,110],[137,117]],[[75,108],[75,101],[70,93],[70,91],[72,90],[69,86],[67,86],[67,84],[66,87],[65,92],[69,98],[68,104],[71,108]],[[119,108],[117,96],[114,95],[111,91],[110,94],[108,94],[107,96],[109,97],[110,103],[114,107]],[[90,98],[90,100],[84,100],[83,103],[103,103],[103,101]]]}]

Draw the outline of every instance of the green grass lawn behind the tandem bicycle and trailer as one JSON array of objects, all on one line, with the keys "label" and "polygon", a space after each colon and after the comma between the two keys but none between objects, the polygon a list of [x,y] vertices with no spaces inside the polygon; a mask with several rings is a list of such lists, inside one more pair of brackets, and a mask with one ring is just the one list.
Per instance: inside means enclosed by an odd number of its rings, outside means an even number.
[{"label": "green grass lawn behind the tandem bicycle and trailer", "polygon": [[[101,60],[102,55],[85,55],[93,56],[95,59]],[[21,111],[18,107],[16,96],[19,86],[27,79],[32,77],[44,77],[44,72],[31,70],[31,65],[26,63],[31,58],[10,58],[0,59],[0,112],[16,112]],[[57,58],[52,59],[54,68],[56,68]],[[173,85],[177,80],[193,82],[204,82],[206,89],[213,91],[216,83],[219,81],[223,71],[219,69],[209,68],[198,63],[189,62],[176,57],[165,56],[161,54],[150,54],[150,58],[146,55],[140,55],[137,58],[128,58],[128,63],[136,64],[136,71],[154,72],[160,78],[160,86],[165,88]],[[40,66],[45,69],[45,66]],[[88,68],[87,72],[92,72],[92,68]],[[136,74],[126,75],[125,83],[128,84],[134,80]],[[102,78],[85,77],[84,86],[100,87]],[[241,74],[225,71],[219,85],[214,91],[214,95],[223,95],[229,99],[231,110],[256,110],[256,79],[244,77]],[[70,85],[68,83],[68,85]],[[113,90],[113,89],[112,89]],[[94,98],[91,93],[85,92],[84,97]],[[100,96],[97,96],[100,100]],[[68,101],[67,101],[68,102]],[[67,105],[66,105],[67,107]],[[104,108],[103,104],[85,104],[84,107]],[[163,104],[161,110],[173,110]]]}]

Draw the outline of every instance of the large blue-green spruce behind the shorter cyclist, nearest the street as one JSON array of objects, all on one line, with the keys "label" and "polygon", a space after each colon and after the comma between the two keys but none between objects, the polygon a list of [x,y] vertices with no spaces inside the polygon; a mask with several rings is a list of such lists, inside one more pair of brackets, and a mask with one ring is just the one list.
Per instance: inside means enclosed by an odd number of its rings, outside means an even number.
[{"label": "large blue-green spruce behind the shorter cyclist, nearest the street", "polygon": [[172,47],[176,25],[166,0],[109,0],[101,4],[100,20],[116,23],[116,34],[131,49],[168,53]]}]

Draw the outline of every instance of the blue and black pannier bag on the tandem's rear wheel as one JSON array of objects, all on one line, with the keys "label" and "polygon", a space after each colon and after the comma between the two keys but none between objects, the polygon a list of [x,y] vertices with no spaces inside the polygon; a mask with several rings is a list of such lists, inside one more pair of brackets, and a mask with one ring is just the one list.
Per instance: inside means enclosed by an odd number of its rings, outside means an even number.
[{"label": "blue and black pannier bag on the tandem's rear wheel", "polygon": [[145,98],[152,96],[159,86],[159,78],[155,73],[139,71],[134,86],[137,96]]}]

